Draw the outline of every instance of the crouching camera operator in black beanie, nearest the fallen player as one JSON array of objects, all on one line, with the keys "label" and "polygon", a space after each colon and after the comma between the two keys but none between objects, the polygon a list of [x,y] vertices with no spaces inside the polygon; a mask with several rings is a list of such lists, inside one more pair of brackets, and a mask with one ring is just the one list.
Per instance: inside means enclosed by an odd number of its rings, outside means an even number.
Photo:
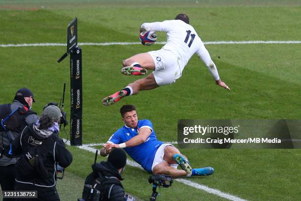
[{"label": "crouching camera operator in black beanie, nearest the fallen player", "polygon": [[[123,178],[121,173],[124,171],[126,165],[126,154],[123,149],[113,149],[109,156],[108,161],[101,161],[92,166],[93,172],[86,178],[85,188],[83,192],[84,201],[126,201],[124,196],[123,186],[120,183]],[[90,188],[98,190],[101,195],[99,199],[90,195]],[[94,190],[95,191],[95,190]],[[83,199],[79,199],[83,201]]]}]

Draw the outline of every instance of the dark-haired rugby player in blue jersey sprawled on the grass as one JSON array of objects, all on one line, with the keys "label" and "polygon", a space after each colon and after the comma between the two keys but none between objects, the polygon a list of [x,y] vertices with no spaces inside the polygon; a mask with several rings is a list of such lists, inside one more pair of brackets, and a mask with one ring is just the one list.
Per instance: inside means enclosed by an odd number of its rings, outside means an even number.
[{"label": "dark-haired rugby player in blue jersey sprawled on the grass", "polygon": [[[101,156],[107,156],[112,148],[123,148],[149,173],[165,174],[174,178],[213,174],[213,167],[191,168],[187,158],[175,146],[159,141],[151,121],[138,120],[135,106],[123,105],[120,114],[124,126],[109,138],[100,151]],[[181,169],[177,169],[178,165]]]}]

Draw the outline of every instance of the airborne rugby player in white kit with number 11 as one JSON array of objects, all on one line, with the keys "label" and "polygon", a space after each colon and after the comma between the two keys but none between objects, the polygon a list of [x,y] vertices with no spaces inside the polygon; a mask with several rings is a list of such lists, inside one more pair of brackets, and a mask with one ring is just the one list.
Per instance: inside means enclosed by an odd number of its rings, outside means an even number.
[{"label": "airborne rugby player in white kit with number 11", "polygon": [[145,75],[147,70],[153,70],[152,73],[104,98],[103,105],[114,104],[125,96],[138,94],[139,91],[151,90],[176,82],[194,53],[208,67],[215,83],[230,91],[230,88],[220,80],[208,50],[194,28],[189,25],[189,18],[186,14],[177,15],[175,20],[143,23],[140,32],[143,31],[166,32],[167,43],[160,50],[137,54],[124,60],[121,73]]}]

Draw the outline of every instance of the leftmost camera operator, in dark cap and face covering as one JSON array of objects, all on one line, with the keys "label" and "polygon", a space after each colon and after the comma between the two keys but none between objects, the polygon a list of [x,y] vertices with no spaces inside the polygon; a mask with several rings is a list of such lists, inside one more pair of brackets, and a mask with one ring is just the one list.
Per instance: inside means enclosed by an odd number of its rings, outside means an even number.
[{"label": "leftmost camera operator, in dark cap and face covering", "polygon": [[[16,92],[12,103],[0,105],[0,185],[2,191],[12,191],[15,188],[15,164],[19,158],[12,152],[10,145],[27,125],[38,120],[39,117],[31,110],[33,102],[35,101],[32,92],[28,88],[22,88]],[[3,199],[5,200],[7,199]]]}]

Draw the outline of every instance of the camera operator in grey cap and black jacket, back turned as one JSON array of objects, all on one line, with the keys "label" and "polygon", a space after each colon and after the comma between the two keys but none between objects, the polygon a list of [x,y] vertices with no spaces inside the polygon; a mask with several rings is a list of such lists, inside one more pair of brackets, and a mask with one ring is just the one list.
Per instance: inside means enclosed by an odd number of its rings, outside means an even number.
[{"label": "camera operator in grey cap and black jacket, back turned", "polygon": [[22,152],[16,165],[15,190],[37,191],[39,201],[60,201],[56,162],[61,167],[68,167],[72,162],[71,153],[58,136],[61,116],[60,108],[47,106],[39,121],[27,126],[13,142],[14,148]]}]

